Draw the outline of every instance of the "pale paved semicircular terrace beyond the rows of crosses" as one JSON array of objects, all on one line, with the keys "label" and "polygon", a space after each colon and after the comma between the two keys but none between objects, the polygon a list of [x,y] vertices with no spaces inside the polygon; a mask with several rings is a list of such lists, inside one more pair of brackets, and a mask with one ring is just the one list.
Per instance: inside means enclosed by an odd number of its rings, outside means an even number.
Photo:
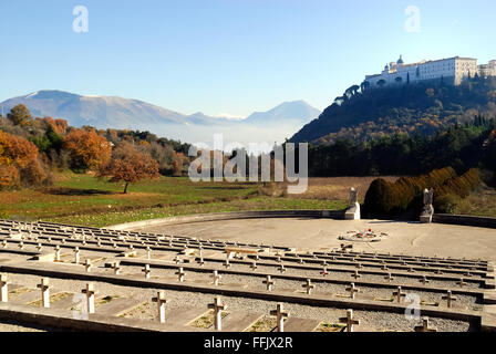
[{"label": "pale paved semicircular terrace beyond the rows of crosses", "polygon": [[125,230],[187,235],[198,239],[285,244],[300,251],[331,250],[348,231],[372,229],[388,233],[380,242],[354,243],[354,250],[395,254],[496,260],[496,229],[443,223],[382,220],[246,219],[154,226],[131,226]]}]

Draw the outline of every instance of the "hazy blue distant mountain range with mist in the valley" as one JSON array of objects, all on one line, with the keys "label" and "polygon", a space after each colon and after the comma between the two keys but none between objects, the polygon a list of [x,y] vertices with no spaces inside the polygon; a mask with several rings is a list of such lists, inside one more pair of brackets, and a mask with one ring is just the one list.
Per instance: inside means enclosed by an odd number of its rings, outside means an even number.
[{"label": "hazy blue distant mountain range with mist in the valley", "polygon": [[213,134],[227,140],[247,143],[283,142],[320,111],[303,101],[286,102],[245,119],[208,116],[202,112],[186,115],[143,101],[117,96],[82,96],[63,91],[38,91],[2,103],[4,112],[24,104],[33,116],[63,118],[70,125],[97,128],[141,129],[164,134],[183,142],[205,142]]}]

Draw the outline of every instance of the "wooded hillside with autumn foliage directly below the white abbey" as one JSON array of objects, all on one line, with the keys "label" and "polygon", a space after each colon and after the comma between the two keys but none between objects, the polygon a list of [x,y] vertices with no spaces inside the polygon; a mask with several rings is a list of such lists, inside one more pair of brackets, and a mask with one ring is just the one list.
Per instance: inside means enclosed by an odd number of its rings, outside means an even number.
[{"label": "wooded hillside with autumn foliage directly below the white abbey", "polygon": [[474,77],[459,86],[443,82],[381,90],[351,86],[319,118],[301,128],[292,143],[332,144],[384,135],[433,135],[456,123],[496,117],[496,77]]}]

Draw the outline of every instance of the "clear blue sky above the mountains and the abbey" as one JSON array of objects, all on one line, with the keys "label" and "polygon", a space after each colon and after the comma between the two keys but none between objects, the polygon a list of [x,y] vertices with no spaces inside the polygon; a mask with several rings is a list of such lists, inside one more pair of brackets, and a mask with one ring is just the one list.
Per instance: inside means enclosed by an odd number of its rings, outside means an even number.
[{"label": "clear blue sky above the mountains and the abbey", "polygon": [[[87,33],[72,30],[75,6]],[[0,101],[56,88],[246,116],[292,100],[323,110],[400,53],[496,59],[494,0],[16,0],[0,13]]]}]

